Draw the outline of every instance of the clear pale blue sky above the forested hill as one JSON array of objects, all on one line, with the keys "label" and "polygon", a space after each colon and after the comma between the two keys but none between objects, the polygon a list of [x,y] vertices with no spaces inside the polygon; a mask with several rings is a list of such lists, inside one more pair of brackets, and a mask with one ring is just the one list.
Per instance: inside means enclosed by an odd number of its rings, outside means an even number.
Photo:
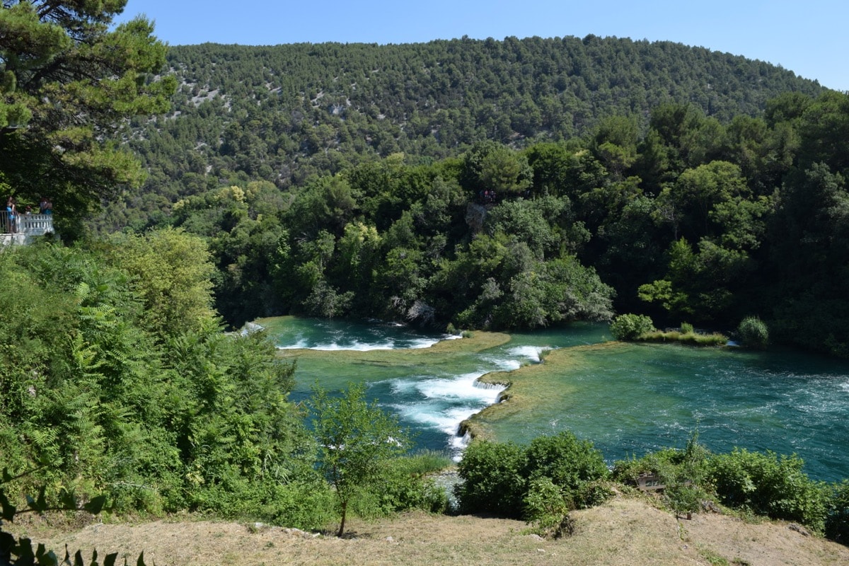
[{"label": "clear pale blue sky above the forested hill", "polygon": [[630,37],[760,59],[849,91],[847,0],[128,0],[169,45]]}]

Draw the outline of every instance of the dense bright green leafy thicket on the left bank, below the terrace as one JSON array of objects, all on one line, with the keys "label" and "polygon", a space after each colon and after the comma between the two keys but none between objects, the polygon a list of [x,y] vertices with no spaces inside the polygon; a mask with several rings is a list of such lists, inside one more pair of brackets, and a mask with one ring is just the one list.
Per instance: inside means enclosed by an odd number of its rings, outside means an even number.
[{"label": "dense bright green leafy thicket on the left bank, below the terrace", "polygon": [[[208,289],[193,271],[206,261],[194,239],[150,233],[127,255],[110,242],[0,254],[0,305],[20,315],[0,322],[0,451],[13,474],[37,468],[16,490],[103,493],[115,511],[283,517],[273,497],[315,480],[302,416],[286,400],[294,367],[263,333],[222,333],[208,292],[186,294]],[[198,255],[132,277],[136,250],[163,242]],[[157,249],[167,261],[168,246]],[[164,262],[146,253],[158,273]],[[192,328],[151,317],[144,298],[160,292],[204,305]]]}]

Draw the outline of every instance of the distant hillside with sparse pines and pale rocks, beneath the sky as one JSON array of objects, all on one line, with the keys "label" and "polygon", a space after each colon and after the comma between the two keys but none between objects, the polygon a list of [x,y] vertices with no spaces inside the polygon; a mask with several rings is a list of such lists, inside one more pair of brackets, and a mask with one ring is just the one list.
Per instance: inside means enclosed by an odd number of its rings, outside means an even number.
[{"label": "distant hillside with sparse pines and pale rocks, beneath the sky", "polygon": [[[468,38],[403,45],[172,47],[171,114],[137,119],[132,148],[151,172],[110,206],[106,229],[143,227],[219,181],[278,188],[396,152],[458,155],[484,139],[524,147],[589,132],[609,115],[694,104],[722,122],[781,92],[816,95],[790,70],[672,42],[587,36]],[[231,183],[232,184],[232,183]]]}]

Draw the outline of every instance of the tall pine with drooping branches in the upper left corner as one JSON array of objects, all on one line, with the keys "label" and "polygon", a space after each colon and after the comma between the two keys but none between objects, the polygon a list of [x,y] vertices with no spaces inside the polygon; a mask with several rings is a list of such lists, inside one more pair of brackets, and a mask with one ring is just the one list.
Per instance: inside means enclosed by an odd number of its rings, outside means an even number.
[{"label": "tall pine with drooping branches in the upper left corner", "polygon": [[113,28],[125,4],[14,1],[0,10],[0,172],[19,199],[51,196],[69,224],[122,185],[141,184],[138,160],[118,140],[129,118],[164,112],[177,86],[158,75],[167,49],[149,20]]}]

